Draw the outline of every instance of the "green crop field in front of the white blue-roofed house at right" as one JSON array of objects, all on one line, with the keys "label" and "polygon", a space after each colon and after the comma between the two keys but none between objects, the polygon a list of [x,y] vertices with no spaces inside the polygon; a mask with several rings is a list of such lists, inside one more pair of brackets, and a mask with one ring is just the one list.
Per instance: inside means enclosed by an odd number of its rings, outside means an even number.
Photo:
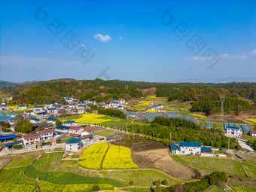
[{"label": "green crop field in front of the white blue-roofed house at right", "polygon": [[230,158],[221,157],[190,157],[172,155],[175,160],[194,168],[210,172],[227,172],[230,175],[239,175],[241,178],[256,178],[256,167]]}]

